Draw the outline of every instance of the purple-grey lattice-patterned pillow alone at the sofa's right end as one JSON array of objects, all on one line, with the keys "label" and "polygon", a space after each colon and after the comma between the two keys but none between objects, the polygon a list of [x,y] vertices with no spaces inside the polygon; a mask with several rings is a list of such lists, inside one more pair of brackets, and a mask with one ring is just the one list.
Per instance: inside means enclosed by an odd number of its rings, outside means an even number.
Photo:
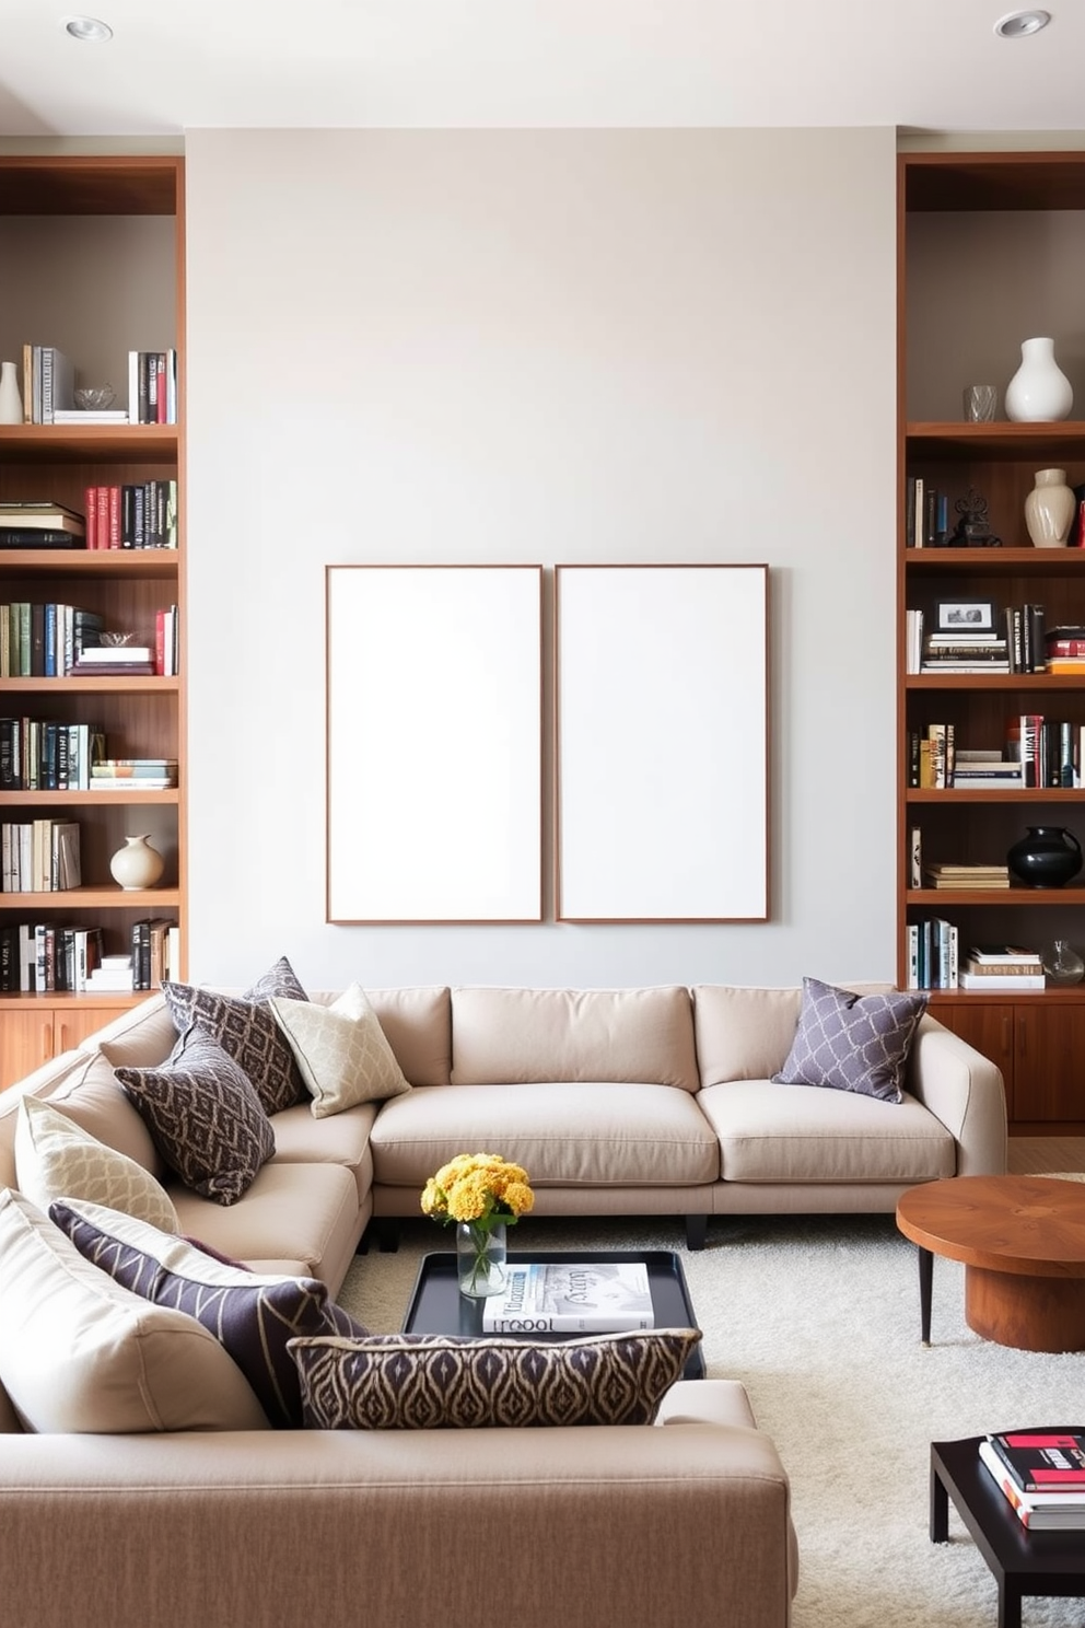
[{"label": "purple-grey lattice-patterned pillow alone at the sofa's right end", "polygon": [[926,1006],[927,996],[914,991],[852,995],[804,978],[795,1039],[773,1079],[901,1102],[904,1065]]}]

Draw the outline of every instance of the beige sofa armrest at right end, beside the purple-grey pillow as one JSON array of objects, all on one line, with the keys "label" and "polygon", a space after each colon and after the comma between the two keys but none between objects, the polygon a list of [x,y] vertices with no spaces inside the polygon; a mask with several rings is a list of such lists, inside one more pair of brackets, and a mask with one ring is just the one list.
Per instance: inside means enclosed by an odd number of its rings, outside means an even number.
[{"label": "beige sofa armrest at right end, beside the purple-grey pillow", "polygon": [[958,1175],[1005,1174],[1002,1071],[929,1013],[916,1032],[908,1089],[956,1141]]}]

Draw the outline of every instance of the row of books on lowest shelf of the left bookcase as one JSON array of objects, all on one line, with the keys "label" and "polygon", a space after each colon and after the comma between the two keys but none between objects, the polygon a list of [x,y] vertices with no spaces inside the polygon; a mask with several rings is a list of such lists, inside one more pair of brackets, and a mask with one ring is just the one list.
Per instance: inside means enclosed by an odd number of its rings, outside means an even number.
[{"label": "row of books on lowest shelf of the left bookcase", "polygon": [[101,926],[10,921],[0,926],[0,993],[129,993],[155,990],[181,974],[181,928],[148,917],[133,921],[130,947],[107,954]]}]

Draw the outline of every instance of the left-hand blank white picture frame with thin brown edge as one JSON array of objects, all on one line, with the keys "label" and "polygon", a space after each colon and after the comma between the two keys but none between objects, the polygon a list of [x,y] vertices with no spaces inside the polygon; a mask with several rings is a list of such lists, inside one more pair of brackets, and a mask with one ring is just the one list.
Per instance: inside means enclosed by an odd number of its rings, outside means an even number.
[{"label": "left-hand blank white picture frame with thin brown edge", "polygon": [[542,567],[327,567],[327,920],[542,920]]}]

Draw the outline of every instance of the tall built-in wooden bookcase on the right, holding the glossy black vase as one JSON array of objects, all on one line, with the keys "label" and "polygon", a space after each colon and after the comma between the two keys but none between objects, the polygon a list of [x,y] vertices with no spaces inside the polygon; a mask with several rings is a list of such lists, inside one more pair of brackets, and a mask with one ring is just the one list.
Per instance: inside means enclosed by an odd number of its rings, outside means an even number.
[{"label": "tall built-in wooden bookcase on the right, holding the glossy black vase", "polygon": [[[1085,625],[1085,549],[1035,549],[1025,497],[1035,474],[1065,469],[1085,482],[1085,418],[1057,423],[965,423],[961,389],[978,378],[1005,381],[1028,334],[1070,332],[1077,278],[1056,244],[1085,234],[1085,151],[903,153],[898,158],[901,353],[898,490],[898,982],[908,983],[908,928],[948,921],[960,961],[976,943],[1043,949],[1054,938],[1085,939],[1085,873],[1059,889],[934,889],[911,886],[913,830],[922,863],[1004,864],[1026,825],[1059,825],[1085,842],[1085,790],[934,790],[909,785],[909,742],[930,724],[952,724],[956,749],[1005,755],[1023,715],[1064,724],[1080,754],[1085,674],[930,674],[906,671],[906,610],[934,625],[937,601],[994,601],[1004,612],[1043,607],[1043,627]],[[1041,212],[1039,215],[1036,212]],[[1043,213],[1046,212],[1046,213]],[[1067,213],[1069,212],[1069,213]],[[1080,220],[1078,220],[1080,218]],[[1039,234],[1038,233],[1039,225]],[[1026,313],[1013,295],[1013,256],[1026,252],[1043,298]],[[1000,267],[1005,267],[1000,272]],[[1038,285],[1035,285],[1038,287]],[[984,293],[978,298],[978,291]],[[1075,329],[1074,329],[1075,330]],[[1085,402],[1075,404],[1080,415]],[[945,497],[948,531],[966,498],[987,505],[999,547],[913,547],[908,495],[922,480]],[[956,503],[961,501],[961,510]],[[945,532],[942,532],[945,536]],[[927,542],[930,537],[927,537]],[[1043,658],[1043,651],[1039,653]],[[1062,741],[1062,736],[1057,736]],[[1065,751],[1065,746],[1059,747]],[[1085,765],[1078,765],[1085,772]],[[1080,1086],[1085,985],[1038,991],[934,988],[935,1016],[1004,1073],[1010,1128],[1085,1133]]]}]

